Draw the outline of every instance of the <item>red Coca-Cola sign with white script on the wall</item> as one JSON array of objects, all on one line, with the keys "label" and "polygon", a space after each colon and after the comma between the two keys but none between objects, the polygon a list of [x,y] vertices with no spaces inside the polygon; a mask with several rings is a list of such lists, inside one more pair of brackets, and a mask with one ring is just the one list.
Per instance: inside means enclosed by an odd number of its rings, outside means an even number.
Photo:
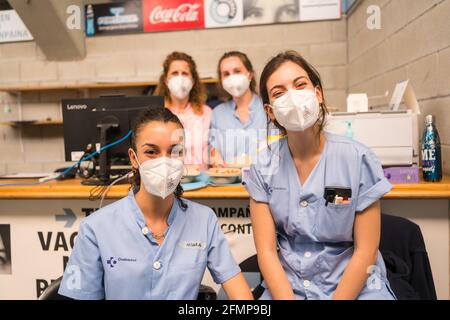
[{"label": "red Coca-Cola sign with white script on the wall", "polygon": [[203,0],[144,0],[144,31],[205,27]]}]

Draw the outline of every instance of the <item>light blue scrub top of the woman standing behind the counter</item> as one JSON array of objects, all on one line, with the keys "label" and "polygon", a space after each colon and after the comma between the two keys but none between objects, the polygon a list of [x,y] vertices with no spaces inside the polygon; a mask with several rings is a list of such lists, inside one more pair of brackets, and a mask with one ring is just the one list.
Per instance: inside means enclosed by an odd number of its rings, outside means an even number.
[{"label": "light blue scrub top of the woman standing behind the counter", "polygon": [[214,108],[211,116],[209,144],[217,149],[225,162],[233,163],[236,157],[250,155],[264,146],[267,138],[267,116],[261,99],[253,94],[249,119],[242,123],[233,100]]}]

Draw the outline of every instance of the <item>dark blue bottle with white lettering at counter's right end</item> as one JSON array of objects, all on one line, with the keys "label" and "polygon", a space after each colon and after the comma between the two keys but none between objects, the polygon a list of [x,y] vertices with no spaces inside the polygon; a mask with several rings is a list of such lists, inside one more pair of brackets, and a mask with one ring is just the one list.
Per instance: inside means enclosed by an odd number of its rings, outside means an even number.
[{"label": "dark blue bottle with white lettering at counter's right end", "polygon": [[432,115],[425,117],[422,136],[422,167],[425,181],[438,182],[442,180],[441,140]]}]

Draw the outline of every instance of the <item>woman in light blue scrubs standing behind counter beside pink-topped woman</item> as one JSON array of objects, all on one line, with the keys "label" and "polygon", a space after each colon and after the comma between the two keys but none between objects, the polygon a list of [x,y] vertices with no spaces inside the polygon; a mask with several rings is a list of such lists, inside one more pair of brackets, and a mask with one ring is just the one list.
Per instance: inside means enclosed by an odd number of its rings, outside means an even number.
[{"label": "woman in light blue scrubs standing behind counter beside pink-topped woman", "polygon": [[244,166],[255,159],[267,133],[255,71],[246,54],[232,51],[220,58],[217,73],[228,100],[212,113],[211,162],[213,166]]}]

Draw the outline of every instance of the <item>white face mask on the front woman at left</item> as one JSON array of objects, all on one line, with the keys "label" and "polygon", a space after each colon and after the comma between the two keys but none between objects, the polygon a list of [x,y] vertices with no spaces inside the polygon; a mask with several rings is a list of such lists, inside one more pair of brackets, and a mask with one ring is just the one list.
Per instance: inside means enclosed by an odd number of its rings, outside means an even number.
[{"label": "white face mask on the front woman at left", "polygon": [[159,157],[140,164],[136,156],[136,161],[145,190],[163,199],[175,191],[183,176],[184,164],[180,159]]}]

